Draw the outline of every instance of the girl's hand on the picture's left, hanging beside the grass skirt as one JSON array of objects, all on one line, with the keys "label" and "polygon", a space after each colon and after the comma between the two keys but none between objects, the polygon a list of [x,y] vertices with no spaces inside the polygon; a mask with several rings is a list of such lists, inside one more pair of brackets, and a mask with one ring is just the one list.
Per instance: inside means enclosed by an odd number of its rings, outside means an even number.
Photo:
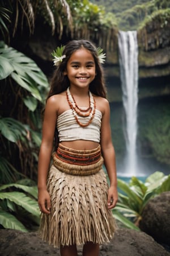
[{"label": "girl's hand on the picture's left, hanging beside the grass skirt", "polygon": [[46,189],[39,189],[38,203],[41,212],[50,214],[51,202],[49,193]]}]

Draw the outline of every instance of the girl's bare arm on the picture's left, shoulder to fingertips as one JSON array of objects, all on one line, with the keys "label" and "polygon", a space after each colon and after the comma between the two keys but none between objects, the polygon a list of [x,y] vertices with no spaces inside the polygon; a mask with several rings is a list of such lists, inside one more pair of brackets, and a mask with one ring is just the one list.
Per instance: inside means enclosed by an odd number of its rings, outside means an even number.
[{"label": "girl's bare arm on the picture's left, shoulder to fingertips", "polygon": [[50,213],[50,196],[46,189],[51,154],[53,150],[54,131],[56,129],[57,108],[56,97],[48,99],[45,106],[44,122],[42,126],[42,142],[38,164],[38,203],[41,212]]}]

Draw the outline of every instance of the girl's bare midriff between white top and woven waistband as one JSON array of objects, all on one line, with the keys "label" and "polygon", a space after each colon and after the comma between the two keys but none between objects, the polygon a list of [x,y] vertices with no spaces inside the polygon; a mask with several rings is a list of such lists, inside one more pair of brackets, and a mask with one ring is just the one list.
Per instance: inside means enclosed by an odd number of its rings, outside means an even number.
[{"label": "girl's bare midriff between white top and woven waistband", "polygon": [[79,139],[76,141],[62,141],[61,144],[65,147],[70,147],[75,150],[92,150],[99,146],[98,142],[85,141],[83,139]]}]

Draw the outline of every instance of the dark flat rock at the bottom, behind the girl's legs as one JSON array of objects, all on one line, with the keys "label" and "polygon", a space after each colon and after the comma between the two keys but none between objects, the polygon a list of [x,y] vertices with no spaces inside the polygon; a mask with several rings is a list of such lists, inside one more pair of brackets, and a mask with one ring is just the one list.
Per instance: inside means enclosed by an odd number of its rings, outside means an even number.
[{"label": "dark flat rock at the bottom, behind the girl's legs", "polygon": [[[1,256],[59,256],[59,249],[47,245],[37,233],[23,233],[11,229],[0,229]],[[82,247],[78,247],[78,256]],[[100,246],[100,256],[170,256],[170,253],[146,233],[130,229],[118,229],[108,245]]]}]

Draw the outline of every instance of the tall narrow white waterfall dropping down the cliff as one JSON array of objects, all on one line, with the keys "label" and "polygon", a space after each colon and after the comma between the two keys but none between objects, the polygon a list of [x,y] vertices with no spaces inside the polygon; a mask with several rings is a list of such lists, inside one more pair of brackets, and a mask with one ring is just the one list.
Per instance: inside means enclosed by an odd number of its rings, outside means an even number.
[{"label": "tall narrow white waterfall dropping down the cliff", "polygon": [[138,42],[137,31],[120,31],[118,35],[123,129],[126,142],[125,174],[137,171]]}]

